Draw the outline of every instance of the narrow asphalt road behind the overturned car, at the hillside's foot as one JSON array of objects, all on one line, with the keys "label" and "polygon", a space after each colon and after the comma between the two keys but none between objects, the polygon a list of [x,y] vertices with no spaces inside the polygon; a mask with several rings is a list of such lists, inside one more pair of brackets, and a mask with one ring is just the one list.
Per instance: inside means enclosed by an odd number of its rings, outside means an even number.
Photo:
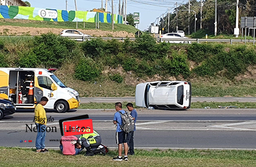
[{"label": "narrow asphalt road behind the overturned car, at the hillside's foot", "polygon": [[[135,102],[135,97],[80,98],[81,103]],[[256,102],[256,97],[192,97],[191,102]]]}]

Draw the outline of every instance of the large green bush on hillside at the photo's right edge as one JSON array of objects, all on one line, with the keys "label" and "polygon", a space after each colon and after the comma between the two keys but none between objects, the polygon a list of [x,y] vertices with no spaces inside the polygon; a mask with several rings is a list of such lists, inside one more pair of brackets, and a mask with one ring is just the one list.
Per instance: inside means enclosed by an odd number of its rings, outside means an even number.
[{"label": "large green bush on hillside at the photo's right edge", "polygon": [[232,80],[238,74],[244,73],[249,65],[256,64],[256,53],[246,46],[230,46],[227,51],[211,54],[193,69],[199,76],[214,76],[221,74]]}]

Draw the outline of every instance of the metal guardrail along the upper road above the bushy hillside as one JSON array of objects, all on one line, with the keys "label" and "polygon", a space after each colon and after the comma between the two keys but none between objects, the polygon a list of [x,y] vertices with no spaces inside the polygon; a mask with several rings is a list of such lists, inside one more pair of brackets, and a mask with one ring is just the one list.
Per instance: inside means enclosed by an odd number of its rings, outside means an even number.
[{"label": "metal guardrail along the upper road above the bushy hillside", "polygon": [[[0,37],[34,37],[34,36],[0,36]],[[126,39],[134,41],[136,38],[135,37],[95,37],[95,36],[84,36],[84,37],[77,37],[77,36],[69,36],[70,39],[72,40],[78,40],[78,41],[86,41],[86,40],[90,40],[90,39],[96,39],[96,38],[101,38],[103,40],[112,40],[112,39],[116,39],[116,40],[121,40],[124,41]],[[162,41],[174,41],[176,43],[183,43],[183,41],[190,41],[191,43],[202,43],[202,42],[219,42],[219,43],[254,43],[255,40],[253,39],[195,39],[195,38],[186,38],[186,39],[180,39],[180,38],[172,38],[172,39],[168,39],[168,38],[159,38],[156,37],[155,38],[156,42],[162,42]]]}]

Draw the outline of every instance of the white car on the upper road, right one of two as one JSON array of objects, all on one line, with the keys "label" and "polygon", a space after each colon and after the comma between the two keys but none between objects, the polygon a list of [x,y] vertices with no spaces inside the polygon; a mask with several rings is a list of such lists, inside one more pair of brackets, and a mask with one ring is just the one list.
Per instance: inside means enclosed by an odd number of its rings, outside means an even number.
[{"label": "white car on the upper road, right one of two", "polygon": [[[185,43],[185,44],[191,44],[191,41],[189,41],[188,37],[181,36],[177,34],[176,32],[170,32],[167,34],[161,35],[161,40],[166,43]],[[175,40],[172,40],[175,39]]]}]

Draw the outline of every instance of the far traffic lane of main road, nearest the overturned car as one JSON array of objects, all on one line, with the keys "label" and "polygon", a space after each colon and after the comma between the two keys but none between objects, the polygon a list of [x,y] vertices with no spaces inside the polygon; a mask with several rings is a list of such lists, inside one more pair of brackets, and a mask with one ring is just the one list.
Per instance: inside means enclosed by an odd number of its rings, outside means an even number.
[{"label": "far traffic lane of main road, nearest the overturned car", "polygon": [[[150,112],[138,111],[138,120],[255,120],[256,112],[254,110],[234,110],[234,109],[217,109],[221,112],[209,112],[209,110],[199,111],[170,111],[162,112],[154,110]],[[215,110],[216,111],[216,110]],[[47,118],[55,121],[60,119],[71,118],[73,116],[88,114],[92,120],[113,120],[115,111],[86,111],[56,113],[47,112]],[[13,115],[5,116],[1,122],[15,121],[32,121],[34,120],[34,112],[16,112]]]}]

